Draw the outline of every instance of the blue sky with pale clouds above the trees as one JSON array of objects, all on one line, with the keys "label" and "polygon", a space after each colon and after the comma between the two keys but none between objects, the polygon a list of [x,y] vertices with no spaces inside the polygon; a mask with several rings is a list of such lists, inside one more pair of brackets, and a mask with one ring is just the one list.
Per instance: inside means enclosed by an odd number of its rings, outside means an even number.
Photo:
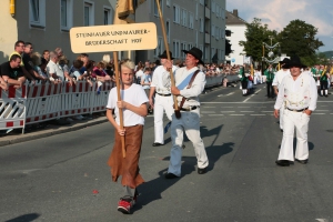
[{"label": "blue sky with pale clouds above the trees", "polygon": [[259,18],[269,29],[281,31],[290,21],[300,19],[317,28],[320,51],[333,50],[333,0],[226,0],[226,10],[239,10],[248,22]]}]

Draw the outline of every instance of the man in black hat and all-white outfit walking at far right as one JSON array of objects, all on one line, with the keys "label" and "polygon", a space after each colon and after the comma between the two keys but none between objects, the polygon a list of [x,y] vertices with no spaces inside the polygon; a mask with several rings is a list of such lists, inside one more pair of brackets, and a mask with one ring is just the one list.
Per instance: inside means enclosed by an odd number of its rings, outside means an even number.
[{"label": "man in black hat and all-white outfit walking at far right", "polygon": [[[286,75],[279,87],[279,94],[274,105],[274,117],[279,117],[282,103],[285,103],[283,117],[283,138],[279,158],[275,163],[280,167],[289,167],[290,161],[306,164],[309,160],[307,130],[311,113],[316,108],[316,87],[313,78],[301,72],[305,68],[299,57],[292,57],[289,64],[291,74]],[[297,145],[293,149],[294,131],[296,129]]]}]

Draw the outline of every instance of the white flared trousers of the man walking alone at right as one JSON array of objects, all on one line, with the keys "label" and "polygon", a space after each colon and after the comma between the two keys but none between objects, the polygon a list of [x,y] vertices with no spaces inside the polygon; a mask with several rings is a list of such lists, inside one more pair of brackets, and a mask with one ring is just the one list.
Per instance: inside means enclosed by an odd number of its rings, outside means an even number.
[{"label": "white flared trousers of the man walking alone at right", "polygon": [[297,160],[309,159],[307,130],[310,117],[304,112],[293,112],[284,110],[283,117],[283,139],[278,160],[294,161],[294,131],[296,129],[296,150]]}]

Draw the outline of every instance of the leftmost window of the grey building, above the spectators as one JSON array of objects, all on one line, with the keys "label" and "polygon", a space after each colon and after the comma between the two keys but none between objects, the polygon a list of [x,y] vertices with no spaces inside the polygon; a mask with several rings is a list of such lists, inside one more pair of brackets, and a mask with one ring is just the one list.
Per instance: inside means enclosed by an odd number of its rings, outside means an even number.
[{"label": "leftmost window of the grey building, above the spectators", "polygon": [[32,27],[46,27],[46,0],[29,0],[29,19]]}]

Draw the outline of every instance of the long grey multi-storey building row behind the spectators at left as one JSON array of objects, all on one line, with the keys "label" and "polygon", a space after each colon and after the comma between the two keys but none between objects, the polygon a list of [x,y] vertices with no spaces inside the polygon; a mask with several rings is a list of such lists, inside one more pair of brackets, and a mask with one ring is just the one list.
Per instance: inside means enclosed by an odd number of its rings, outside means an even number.
[{"label": "long grey multi-storey building row behind the spectators at left", "polygon": [[[78,54],[71,51],[70,29],[112,24],[115,0],[16,0],[13,8],[10,2],[3,2],[0,8],[1,62],[8,60],[17,40],[31,42],[34,51],[39,52],[60,47],[68,59],[73,61]],[[211,62],[215,53],[219,62],[224,61],[225,0],[160,0],[160,4],[168,43],[174,58],[184,59],[181,50],[198,47],[204,52],[205,62]],[[130,54],[120,52],[120,58],[130,57],[135,62],[157,60],[165,46],[155,0],[147,0],[140,4],[134,20],[157,24],[158,48],[132,51]],[[89,56],[100,61],[103,54]]]}]

